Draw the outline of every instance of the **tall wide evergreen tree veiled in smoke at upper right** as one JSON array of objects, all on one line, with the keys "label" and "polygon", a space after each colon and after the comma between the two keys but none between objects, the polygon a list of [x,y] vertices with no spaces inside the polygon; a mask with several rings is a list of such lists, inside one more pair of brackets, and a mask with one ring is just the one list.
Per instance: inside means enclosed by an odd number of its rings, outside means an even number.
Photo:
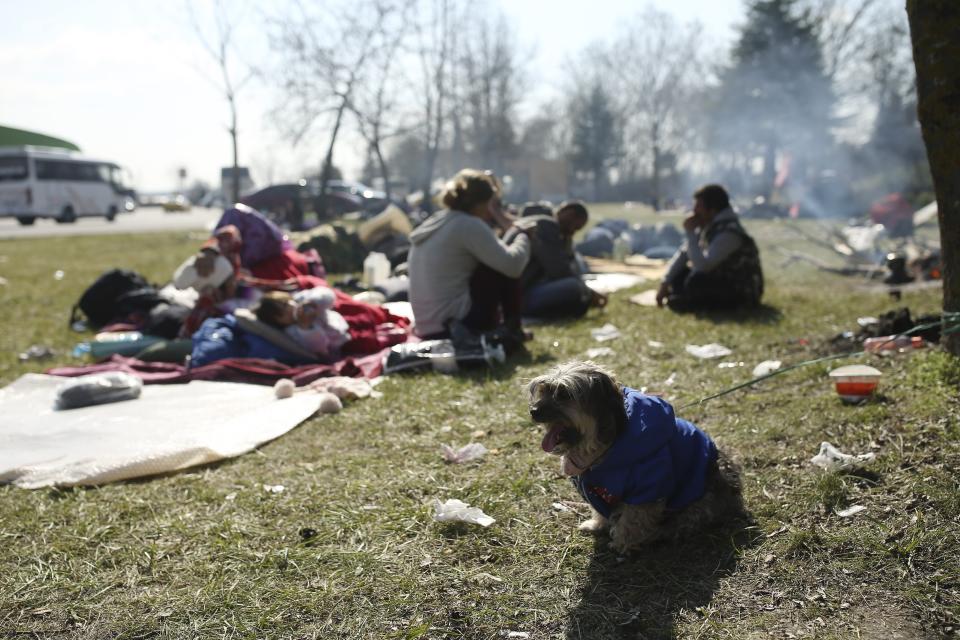
[{"label": "tall wide evergreen tree veiled in smoke at upper right", "polygon": [[756,191],[769,198],[779,156],[792,158],[802,181],[803,167],[832,147],[833,88],[815,24],[797,0],[749,0],[732,58],[714,94],[711,146],[744,164],[762,158]]}]

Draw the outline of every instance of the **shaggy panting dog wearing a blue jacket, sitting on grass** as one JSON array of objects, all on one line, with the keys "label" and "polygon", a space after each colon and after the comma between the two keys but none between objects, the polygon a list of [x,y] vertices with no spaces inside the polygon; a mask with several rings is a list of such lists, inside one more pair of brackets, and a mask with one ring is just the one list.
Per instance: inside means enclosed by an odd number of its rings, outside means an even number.
[{"label": "shaggy panting dog wearing a blue jacket, sitting on grass", "polygon": [[619,553],[676,539],[742,513],[739,473],[696,426],[655,396],[617,383],[593,362],[568,362],[530,381],[530,417],[543,450],[590,503],[580,525],[609,531]]}]

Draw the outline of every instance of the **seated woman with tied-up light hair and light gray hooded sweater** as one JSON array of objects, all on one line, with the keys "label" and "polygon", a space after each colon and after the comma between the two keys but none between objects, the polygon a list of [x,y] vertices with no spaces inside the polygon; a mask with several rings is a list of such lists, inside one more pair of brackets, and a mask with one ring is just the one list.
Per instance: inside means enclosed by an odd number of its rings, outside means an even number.
[{"label": "seated woman with tied-up light hair and light gray hooded sweater", "polygon": [[519,233],[507,244],[494,233],[494,224],[513,226],[499,191],[490,173],[464,169],[444,189],[446,208],[410,234],[410,304],[420,337],[469,339],[501,327],[513,344],[522,341],[518,278],[530,240]]}]

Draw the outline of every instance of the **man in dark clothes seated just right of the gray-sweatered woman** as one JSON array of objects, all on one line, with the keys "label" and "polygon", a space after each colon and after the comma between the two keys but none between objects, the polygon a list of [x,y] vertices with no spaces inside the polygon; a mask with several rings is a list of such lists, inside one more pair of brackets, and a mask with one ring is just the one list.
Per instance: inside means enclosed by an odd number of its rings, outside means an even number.
[{"label": "man in dark clothes seated just right of the gray-sweatered woman", "polygon": [[530,262],[520,276],[524,316],[576,317],[591,305],[606,304],[606,297],[583,283],[574,256],[573,235],[587,224],[587,217],[581,202],[564,202],[556,215],[537,203],[524,207],[514,222],[508,235],[522,230],[530,236]]}]

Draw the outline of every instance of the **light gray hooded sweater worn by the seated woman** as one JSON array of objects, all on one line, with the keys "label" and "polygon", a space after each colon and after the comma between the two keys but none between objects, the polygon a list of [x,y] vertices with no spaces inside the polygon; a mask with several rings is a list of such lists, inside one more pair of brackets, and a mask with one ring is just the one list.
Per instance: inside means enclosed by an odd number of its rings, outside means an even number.
[{"label": "light gray hooded sweater worn by the seated woman", "polygon": [[410,304],[420,336],[467,315],[470,276],[480,264],[518,278],[530,258],[525,234],[504,244],[483,220],[462,211],[433,214],[410,234],[410,245]]}]

